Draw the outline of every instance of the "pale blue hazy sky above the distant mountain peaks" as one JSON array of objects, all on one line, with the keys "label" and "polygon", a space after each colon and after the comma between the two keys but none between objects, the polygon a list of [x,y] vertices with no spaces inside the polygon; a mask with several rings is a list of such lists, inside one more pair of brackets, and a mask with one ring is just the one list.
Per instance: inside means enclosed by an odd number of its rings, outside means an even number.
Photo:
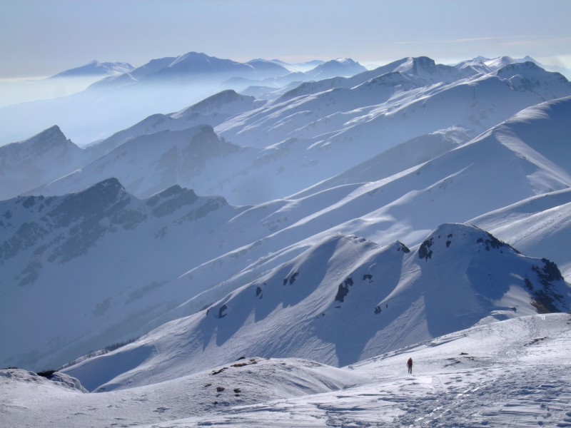
[{"label": "pale blue hazy sky above the distant mountain peaks", "polygon": [[571,0],[0,0],[0,78],[188,51],[248,61],[530,55],[571,67]]}]

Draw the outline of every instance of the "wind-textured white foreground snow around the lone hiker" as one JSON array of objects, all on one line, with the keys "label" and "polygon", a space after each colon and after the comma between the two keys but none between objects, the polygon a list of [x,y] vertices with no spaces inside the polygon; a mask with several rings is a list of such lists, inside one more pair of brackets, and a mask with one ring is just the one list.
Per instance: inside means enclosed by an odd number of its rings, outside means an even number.
[{"label": "wind-textured white foreground snow around the lone hiker", "polygon": [[[166,382],[84,394],[0,371],[10,427],[568,427],[570,315],[480,325],[343,368],[246,357]],[[406,360],[412,357],[413,374]]]}]

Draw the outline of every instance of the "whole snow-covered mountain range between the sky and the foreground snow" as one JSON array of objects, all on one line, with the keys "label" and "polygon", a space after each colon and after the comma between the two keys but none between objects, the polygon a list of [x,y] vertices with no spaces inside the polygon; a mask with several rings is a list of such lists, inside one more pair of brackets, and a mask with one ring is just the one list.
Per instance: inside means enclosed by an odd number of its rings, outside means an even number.
[{"label": "whole snow-covered mountain range between the sky and the foreground snow", "polygon": [[64,366],[65,388],[139,397],[259,365],[307,376],[268,396],[290,399],[569,312],[571,83],[525,59],[189,53],[46,102],[220,89],[81,147],[59,124],[0,146],[0,367]]}]

